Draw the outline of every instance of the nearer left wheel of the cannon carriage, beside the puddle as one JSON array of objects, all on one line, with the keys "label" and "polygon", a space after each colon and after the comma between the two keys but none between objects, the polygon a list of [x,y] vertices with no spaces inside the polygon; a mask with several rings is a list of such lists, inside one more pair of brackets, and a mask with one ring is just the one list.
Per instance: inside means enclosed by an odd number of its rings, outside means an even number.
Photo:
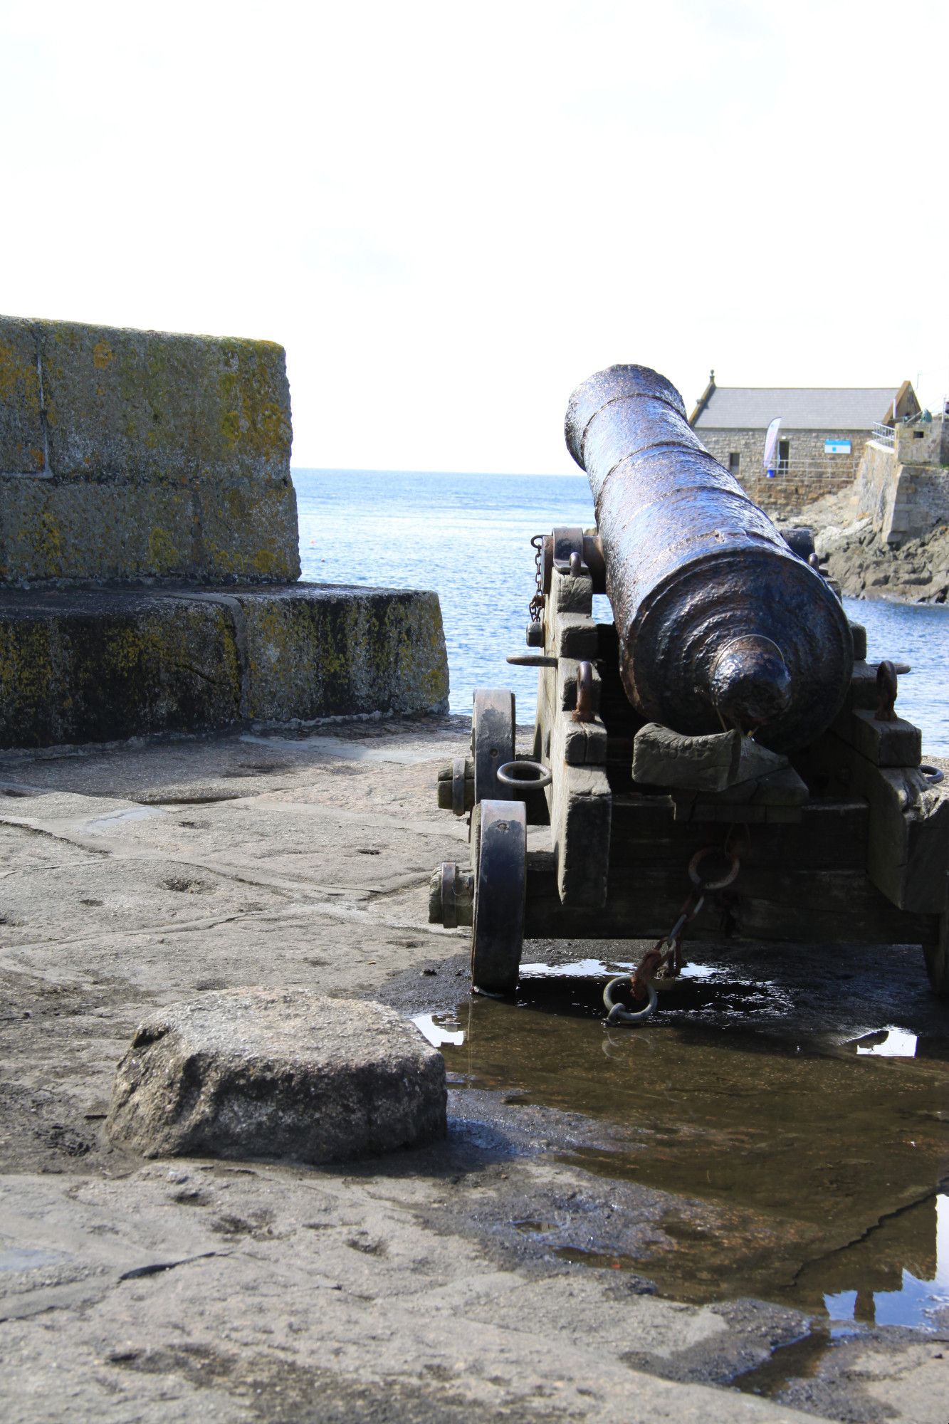
[{"label": "nearer left wheel of the cannon carriage, beside the puddle", "polygon": [[527,810],[523,802],[500,800],[483,800],[479,809],[472,985],[510,994],[524,943]]}]

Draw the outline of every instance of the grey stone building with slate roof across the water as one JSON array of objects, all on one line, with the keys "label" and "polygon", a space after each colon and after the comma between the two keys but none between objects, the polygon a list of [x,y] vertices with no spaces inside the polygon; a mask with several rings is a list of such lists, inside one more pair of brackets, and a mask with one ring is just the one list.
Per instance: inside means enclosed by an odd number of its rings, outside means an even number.
[{"label": "grey stone building with slate roof across the water", "polygon": [[[851,484],[875,427],[919,412],[912,384],[821,389],[809,386],[708,386],[690,416],[705,449],[774,514]],[[781,417],[772,474],[762,468],[765,433]]]}]

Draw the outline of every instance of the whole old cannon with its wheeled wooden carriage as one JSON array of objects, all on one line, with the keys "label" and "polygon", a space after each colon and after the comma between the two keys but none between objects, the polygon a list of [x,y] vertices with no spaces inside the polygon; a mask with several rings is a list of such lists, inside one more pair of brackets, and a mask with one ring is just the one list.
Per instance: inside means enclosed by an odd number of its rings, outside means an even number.
[{"label": "whole old cannon with its wheeled wooden carriage", "polygon": [[[655,940],[606,991],[636,1021],[683,937],[919,944],[949,995],[949,797],[895,712],[905,664],[868,662],[808,530],[781,533],[657,372],[570,397],[597,525],[536,535],[533,746],[514,696],[474,693],[470,756],[439,775],[470,866],[429,918],[470,926],[477,991],[516,988],[527,938]],[[596,621],[606,592],[613,622]]]}]

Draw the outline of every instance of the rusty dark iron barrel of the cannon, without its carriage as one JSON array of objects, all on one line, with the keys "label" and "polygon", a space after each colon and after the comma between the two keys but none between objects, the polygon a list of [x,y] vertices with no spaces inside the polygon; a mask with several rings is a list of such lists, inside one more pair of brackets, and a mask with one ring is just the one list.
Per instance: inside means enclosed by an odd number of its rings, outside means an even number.
[{"label": "rusty dark iron barrel of the cannon, without its carriage", "polygon": [[702,447],[675,387],[610,366],[570,397],[633,706],[675,732],[741,726],[777,752],[839,711],[854,644],[839,600]]}]

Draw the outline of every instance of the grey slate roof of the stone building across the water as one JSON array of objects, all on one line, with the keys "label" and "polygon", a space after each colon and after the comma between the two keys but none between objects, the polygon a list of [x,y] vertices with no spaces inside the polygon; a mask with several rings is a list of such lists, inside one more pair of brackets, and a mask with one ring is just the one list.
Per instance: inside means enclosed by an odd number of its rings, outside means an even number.
[{"label": "grey slate roof of the stone building across the water", "polygon": [[883,420],[896,386],[826,390],[816,386],[715,386],[695,430],[869,430]]}]

